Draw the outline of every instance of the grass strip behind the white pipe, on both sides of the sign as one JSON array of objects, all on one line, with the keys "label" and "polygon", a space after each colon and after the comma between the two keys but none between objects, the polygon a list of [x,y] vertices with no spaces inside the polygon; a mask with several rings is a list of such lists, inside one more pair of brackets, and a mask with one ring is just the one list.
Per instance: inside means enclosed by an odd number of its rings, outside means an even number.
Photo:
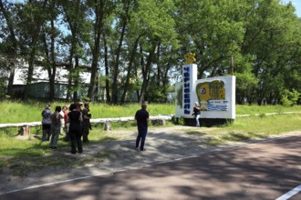
[{"label": "grass strip behind the white pipe, on both sides of the sign", "polygon": [[[22,123],[22,122],[38,122],[41,121],[41,113],[46,103],[30,101],[28,103],[3,101],[0,102],[2,107],[2,115],[0,124],[6,123]],[[57,105],[70,105],[66,102],[51,103],[53,111]],[[90,110],[93,118],[114,118],[133,116],[140,109],[139,104],[127,105],[106,105],[106,104],[90,104]],[[150,104],[148,105],[150,115],[174,115],[175,108],[173,104]],[[265,115],[267,113],[284,113],[288,111],[301,112],[301,106],[295,105],[285,107],[282,105],[236,105],[236,115]]]}]

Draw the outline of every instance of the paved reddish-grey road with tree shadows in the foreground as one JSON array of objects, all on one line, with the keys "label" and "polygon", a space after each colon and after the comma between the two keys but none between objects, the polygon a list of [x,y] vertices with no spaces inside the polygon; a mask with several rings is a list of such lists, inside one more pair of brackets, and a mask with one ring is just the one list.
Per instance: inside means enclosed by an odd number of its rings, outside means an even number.
[{"label": "paved reddish-grey road with tree shadows in the foreground", "polygon": [[294,200],[301,199],[300,189],[301,135],[294,135],[20,190],[0,199],[257,200],[284,195],[281,200]]}]

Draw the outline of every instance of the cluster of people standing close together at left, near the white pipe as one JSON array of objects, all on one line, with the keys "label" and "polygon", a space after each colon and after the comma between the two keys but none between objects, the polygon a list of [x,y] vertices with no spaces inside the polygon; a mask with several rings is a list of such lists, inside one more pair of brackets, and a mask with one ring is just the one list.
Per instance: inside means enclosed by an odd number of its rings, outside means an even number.
[{"label": "cluster of people standing close together at left, near the white pipe", "polygon": [[[84,108],[83,108],[84,105]],[[56,106],[52,113],[50,105],[42,111],[42,141],[50,141],[50,148],[57,148],[59,135],[65,130],[65,141],[71,142],[71,154],[82,153],[82,143],[88,143],[89,130],[91,129],[88,103],[74,103],[67,107]],[[81,139],[82,138],[82,139]]]}]

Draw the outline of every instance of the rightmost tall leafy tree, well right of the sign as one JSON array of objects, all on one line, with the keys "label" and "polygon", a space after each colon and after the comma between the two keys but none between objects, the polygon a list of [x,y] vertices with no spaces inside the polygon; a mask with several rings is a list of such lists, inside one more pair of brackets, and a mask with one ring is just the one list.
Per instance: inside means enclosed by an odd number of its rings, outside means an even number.
[{"label": "rightmost tall leafy tree, well right of the sign", "polygon": [[280,5],[276,0],[258,0],[251,7],[242,52],[252,55],[252,73],[258,85],[247,96],[249,104],[279,103],[282,91],[288,88],[285,79],[293,78],[287,70],[300,49],[300,34],[296,33],[300,20],[293,12],[291,5]]}]

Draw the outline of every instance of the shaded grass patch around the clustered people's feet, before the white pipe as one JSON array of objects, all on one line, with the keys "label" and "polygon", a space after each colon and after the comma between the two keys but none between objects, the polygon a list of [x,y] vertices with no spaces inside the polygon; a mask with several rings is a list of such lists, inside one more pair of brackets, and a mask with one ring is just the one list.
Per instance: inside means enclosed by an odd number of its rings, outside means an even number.
[{"label": "shaded grass patch around the clustered people's feet, before the white pipe", "polygon": [[[8,170],[11,175],[24,176],[27,173],[36,172],[46,168],[75,168],[88,165],[89,163],[101,163],[110,157],[116,157],[116,153],[102,151],[93,156],[70,156],[68,154],[59,154],[57,159],[56,152],[49,148],[48,142],[42,142],[31,135],[28,139],[16,139],[12,133],[3,134],[0,132],[0,173]],[[111,136],[102,130],[94,127],[90,132],[90,142],[92,144],[119,140],[122,135]],[[60,151],[69,152],[70,145],[63,141],[63,135],[60,135],[58,144]]]}]

